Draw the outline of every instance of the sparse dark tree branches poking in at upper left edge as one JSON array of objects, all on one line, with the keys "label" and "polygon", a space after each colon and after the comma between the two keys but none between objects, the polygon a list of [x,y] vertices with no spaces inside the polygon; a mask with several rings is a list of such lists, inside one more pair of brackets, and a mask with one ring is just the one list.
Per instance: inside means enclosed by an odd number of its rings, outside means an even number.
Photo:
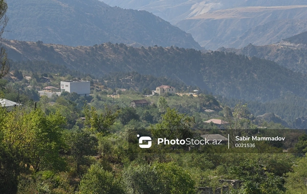
[{"label": "sparse dark tree branches poking in at upper left edge", "polygon": [[[6,11],[8,9],[8,5],[5,0],[0,0],[0,37],[4,33],[4,29],[8,23],[9,18],[6,16]],[[0,79],[8,74],[10,70],[9,60],[7,58],[7,54],[5,49],[1,47],[0,49]]]}]

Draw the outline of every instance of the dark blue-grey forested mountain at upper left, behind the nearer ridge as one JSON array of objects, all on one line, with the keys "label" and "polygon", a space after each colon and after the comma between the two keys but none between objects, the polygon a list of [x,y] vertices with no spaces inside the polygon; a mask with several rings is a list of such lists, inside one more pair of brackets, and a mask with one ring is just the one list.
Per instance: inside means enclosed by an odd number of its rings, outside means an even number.
[{"label": "dark blue-grey forested mountain at upper left, behind the nearer ridge", "polygon": [[98,0],[8,0],[5,38],[64,45],[123,42],[201,49],[192,36],[146,11],[110,7]]}]

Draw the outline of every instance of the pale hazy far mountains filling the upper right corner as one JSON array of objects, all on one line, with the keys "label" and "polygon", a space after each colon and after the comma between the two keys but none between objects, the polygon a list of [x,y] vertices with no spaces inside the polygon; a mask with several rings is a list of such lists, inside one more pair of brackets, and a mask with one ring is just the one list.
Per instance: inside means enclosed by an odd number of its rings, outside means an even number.
[{"label": "pale hazy far mountains filling the upper right corner", "polygon": [[208,50],[265,45],[307,31],[307,2],[245,0],[110,1],[111,6],[147,10],[191,33]]}]

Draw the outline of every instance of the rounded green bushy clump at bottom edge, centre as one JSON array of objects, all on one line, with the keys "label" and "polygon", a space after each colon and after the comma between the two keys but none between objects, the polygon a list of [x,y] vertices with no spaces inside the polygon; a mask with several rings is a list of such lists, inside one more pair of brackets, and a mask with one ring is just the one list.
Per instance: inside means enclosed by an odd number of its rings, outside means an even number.
[{"label": "rounded green bushy clump at bottom edge, centre", "polygon": [[123,182],[129,194],[195,193],[195,182],[174,163],[129,166],[124,170]]}]

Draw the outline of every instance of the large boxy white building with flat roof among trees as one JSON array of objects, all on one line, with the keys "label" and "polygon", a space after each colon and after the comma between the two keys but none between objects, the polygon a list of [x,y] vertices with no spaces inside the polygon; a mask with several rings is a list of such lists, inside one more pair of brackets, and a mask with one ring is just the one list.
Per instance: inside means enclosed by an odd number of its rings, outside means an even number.
[{"label": "large boxy white building with flat roof among trees", "polygon": [[90,95],[90,81],[65,81],[61,82],[61,92],[68,91],[70,93],[76,92],[80,96]]}]

